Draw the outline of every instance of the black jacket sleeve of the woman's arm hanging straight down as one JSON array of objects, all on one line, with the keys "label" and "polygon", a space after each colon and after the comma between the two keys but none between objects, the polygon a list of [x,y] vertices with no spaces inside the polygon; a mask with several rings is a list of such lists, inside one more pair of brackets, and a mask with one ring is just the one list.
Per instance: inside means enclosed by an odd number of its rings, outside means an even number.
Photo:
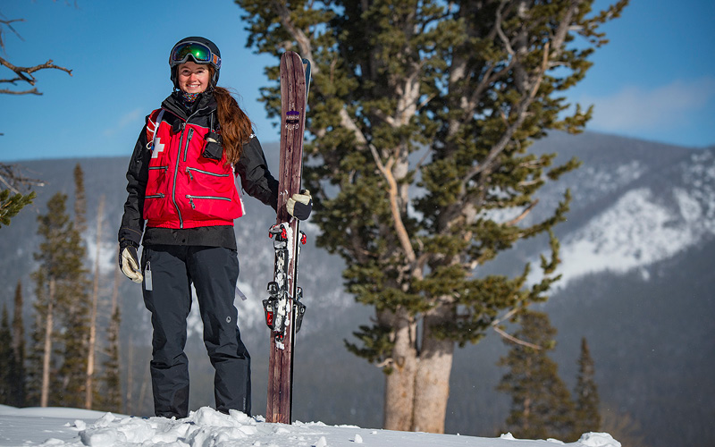
[{"label": "black jacket sleeve of the woman's arm hanging straight down", "polygon": [[131,155],[127,169],[127,201],[124,202],[122,224],[119,227],[118,240],[130,240],[139,247],[141,234],[144,231],[144,191],[147,189],[149,177],[149,159],[151,151],[147,149],[147,126],[145,124],[134,152]]}]

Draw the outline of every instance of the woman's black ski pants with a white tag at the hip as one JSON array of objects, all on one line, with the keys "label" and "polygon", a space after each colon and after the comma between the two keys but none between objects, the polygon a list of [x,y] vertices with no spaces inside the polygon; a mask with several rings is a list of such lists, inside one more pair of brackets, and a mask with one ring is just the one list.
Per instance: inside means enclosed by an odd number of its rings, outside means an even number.
[{"label": "woman's black ski pants with a white tag at the hip", "polygon": [[191,283],[204,322],[204,344],[214,366],[216,409],[250,415],[250,356],[240,339],[233,305],[239,259],[218,247],[155,245],[145,247],[144,304],[151,312],[151,371],[156,416],[189,416],[189,360],[184,353]]}]

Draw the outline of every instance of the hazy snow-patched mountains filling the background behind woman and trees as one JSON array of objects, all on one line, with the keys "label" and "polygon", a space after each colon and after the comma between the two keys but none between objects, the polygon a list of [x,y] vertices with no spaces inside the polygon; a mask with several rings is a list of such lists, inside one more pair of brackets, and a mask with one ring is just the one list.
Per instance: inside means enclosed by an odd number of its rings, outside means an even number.
[{"label": "hazy snow-patched mountains filling the background behind woman and trees", "polygon": [[[269,160],[273,145],[266,145]],[[561,375],[574,383],[581,337],[586,337],[596,363],[604,411],[611,425],[618,420],[641,426],[644,443],[711,445],[715,427],[701,421],[715,415],[715,148],[677,148],[635,139],[585,133],[554,133],[534,144],[535,153],[558,153],[557,163],[576,156],[583,166],[540,191],[534,221],[556,206],[569,188],[573,201],[568,221],[556,232],[561,241],[563,279],[544,305],[559,329],[554,358]],[[97,204],[105,196],[105,225],[100,250],[111,290],[116,229],[125,199],[123,158],[42,160],[22,163],[29,176],[42,178],[35,204],[0,229],[0,302],[12,306],[18,280],[26,301],[33,296],[29,274],[37,250],[36,216],[46,211],[55,191],[73,195],[72,169],[80,163],[88,190],[88,251],[94,256]],[[271,166],[273,170],[276,168]],[[254,358],[254,408],[265,405],[267,332],[260,299],[265,298],[273,249],[267,237],[273,212],[246,198],[248,215],[236,223],[240,256],[241,333]],[[301,420],[328,424],[380,426],[383,377],[376,368],[343,348],[369,309],[357,306],[342,291],[338,257],[316,249],[315,226],[305,225],[308,244],[301,252],[299,283],[307,316],[299,335],[295,413]],[[546,240],[521,242],[498,257],[484,273],[514,274],[535,261]],[[535,269],[537,270],[537,269]],[[123,279],[123,278],[122,278]],[[122,281],[122,333],[134,346],[128,367],[137,368],[131,409],[146,414],[148,392],[140,392],[148,356],[150,328],[139,288]],[[29,322],[29,302],[26,311]],[[200,333],[197,316],[192,316]],[[493,334],[459,350],[455,358],[448,408],[450,433],[495,435],[506,418],[508,401],[494,391],[503,374],[494,364],[505,353]],[[125,354],[126,355],[126,354]],[[211,367],[200,338],[189,339],[194,377],[192,408],[210,405]],[[206,383],[204,383],[206,382]],[[351,386],[346,387],[349,383]],[[145,385],[146,386],[146,385]],[[454,392],[458,391],[458,392]],[[262,401],[263,400],[263,401]],[[698,402],[697,406],[693,401]],[[260,410],[258,411],[260,412]],[[614,422],[615,421],[615,422]],[[677,424],[673,426],[674,423]],[[637,431],[637,430],[636,430]],[[611,433],[619,439],[617,433]],[[636,435],[636,434],[632,434]]]}]

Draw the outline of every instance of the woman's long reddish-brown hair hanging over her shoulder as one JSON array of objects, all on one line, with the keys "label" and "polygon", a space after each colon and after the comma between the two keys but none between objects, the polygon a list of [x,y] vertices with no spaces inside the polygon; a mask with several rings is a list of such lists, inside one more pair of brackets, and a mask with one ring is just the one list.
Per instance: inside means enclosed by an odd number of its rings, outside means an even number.
[{"label": "woman's long reddish-brown hair hanging over her shoulder", "polygon": [[[213,67],[211,67],[213,69]],[[212,73],[213,75],[213,73]],[[223,151],[226,161],[236,164],[239,161],[243,145],[253,133],[253,122],[241,110],[231,91],[223,87],[214,87],[214,97],[218,103],[218,122],[221,124]]]}]

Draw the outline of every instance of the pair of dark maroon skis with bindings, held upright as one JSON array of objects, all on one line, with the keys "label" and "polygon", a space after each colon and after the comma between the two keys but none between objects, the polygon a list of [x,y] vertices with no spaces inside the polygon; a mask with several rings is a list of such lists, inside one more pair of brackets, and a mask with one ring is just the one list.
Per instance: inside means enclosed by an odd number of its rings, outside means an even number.
[{"label": "pair of dark maroon skis with bindings, held upright", "polygon": [[[304,63],[306,64],[304,66]],[[268,358],[267,422],[290,424],[292,407],[293,348],[295,334],[306,311],[302,290],[297,286],[300,244],[305,234],[298,219],[290,216],[286,202],[300,192],[303,170],[303,132],[306,122],[310,63],[292,51],[281,57],[281,155],[276,223],[273,238],[275,262],[273,281],[264,299],[265,323],[271,329]]]}]

